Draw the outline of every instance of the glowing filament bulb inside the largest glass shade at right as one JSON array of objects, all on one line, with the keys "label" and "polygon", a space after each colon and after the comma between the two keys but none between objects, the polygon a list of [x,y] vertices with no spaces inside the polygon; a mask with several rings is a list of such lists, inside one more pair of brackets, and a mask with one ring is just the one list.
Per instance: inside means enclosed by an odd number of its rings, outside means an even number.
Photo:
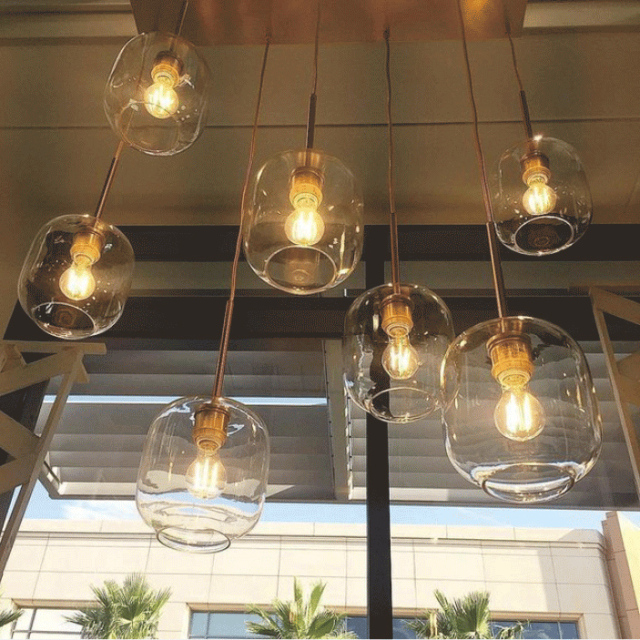
[{"label": "glowing filament bulb inside the largest glass shade at right", "polygon": [[498,431],[511,440],[524,442],[544,428],[544,409],[528,387],[503,387],[493,414]]}]

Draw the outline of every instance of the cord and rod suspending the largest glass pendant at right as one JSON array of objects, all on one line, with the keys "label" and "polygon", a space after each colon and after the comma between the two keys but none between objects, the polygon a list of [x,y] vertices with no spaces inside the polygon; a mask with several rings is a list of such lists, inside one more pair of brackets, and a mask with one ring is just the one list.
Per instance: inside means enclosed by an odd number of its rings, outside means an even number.
[{"label": "cord and rod suspending the largest glass pendant at right", "polygon": [[478,109],[476,107],[476,99],[473,94],[473,80],[471,78],[471,65],[469,64],[469,51],[467,50],[467,34],[464,27],[464,18],[462,16],[462,8],[460,0],[456,0],[458,9],[458,18],[460,20],[460,31],[462,33],[462,51],[464,52],[465,68],[467,72],[467,85],[469,88],[469,101],[471,103],[471,111],[473,112],[473,141],[476,149],[476,157],[478,159],[478,168],[480,170],[480,182],[482,184],[482,197],[484,200],[484,210],[487,216],[486,227],[487,237],[489,239],[489,252],[491,254],[491,269],[493,272],[493,288],[496,293],[496,303],[498,305],[498,315],[504,318],[507,315],[507,298],[504,292],[504,276],[502,274],[502,264],[500,263],[500,249],[498,246],[498,237],[493,226],[493,213],[491,207],[491,194],[489,192],[489,183],[487,181],[487,169],[482,153],[482,144],[480,143],[480,131],[478,129]]}]

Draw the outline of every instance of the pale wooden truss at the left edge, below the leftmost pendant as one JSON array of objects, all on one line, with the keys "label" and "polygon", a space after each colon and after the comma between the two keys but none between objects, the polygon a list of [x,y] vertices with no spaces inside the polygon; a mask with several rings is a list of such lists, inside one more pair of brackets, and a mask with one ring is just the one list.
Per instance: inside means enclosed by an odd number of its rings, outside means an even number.
[{"label": "pale wooden truss at the left edge, below the leftmost pendant", "polygon": [[[23,353],[50,353],[27,364]],[[85,354],[105,354],[103,344],[0,341],[0,396],[63,376],[40,436],[0,411],[0,449],[11,459],[0,465],[0,494],[20,487],[0,538],[0,577],[18,534],[22,517],[47,456],[53,434],[74,382],[87,382]]]}]

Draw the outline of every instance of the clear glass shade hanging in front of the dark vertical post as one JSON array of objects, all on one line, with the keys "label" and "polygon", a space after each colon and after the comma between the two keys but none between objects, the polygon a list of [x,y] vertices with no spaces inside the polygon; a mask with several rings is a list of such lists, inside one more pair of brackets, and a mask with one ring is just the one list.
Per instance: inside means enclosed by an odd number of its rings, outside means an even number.
[{"label": "clear glass shade hanging in front of the dark vertical post", "polygon": [[426,287],[400,285],[412,327],[392,339],[383,329],[385,284],[357,298],[345,319],[344,383],[351,399],[385,422],[412,422],[441,407],[440,368],[454,337],[451,313]]}]

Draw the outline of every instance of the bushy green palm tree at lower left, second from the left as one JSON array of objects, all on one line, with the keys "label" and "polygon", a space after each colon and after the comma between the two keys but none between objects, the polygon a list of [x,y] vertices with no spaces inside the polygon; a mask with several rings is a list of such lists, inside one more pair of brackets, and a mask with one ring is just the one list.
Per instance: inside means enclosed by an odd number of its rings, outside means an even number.
[{"label": "bushy green palm tree at lower left, second from the left", "polygon": [[106,580],[91,587],[97,603],[81,609],[67,620],[82,627],[83,638],[155,638],[160,611],[170,589],[154,591],[143,576],[131,574],[122,586]]}]

